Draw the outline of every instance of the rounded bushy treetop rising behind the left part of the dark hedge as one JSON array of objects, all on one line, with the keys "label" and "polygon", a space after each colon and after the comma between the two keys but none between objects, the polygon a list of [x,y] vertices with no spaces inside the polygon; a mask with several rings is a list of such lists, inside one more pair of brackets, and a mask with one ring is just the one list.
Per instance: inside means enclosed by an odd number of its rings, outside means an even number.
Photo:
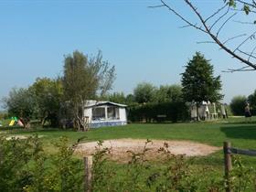
[{"label": "rounded bushy treetop rising behind the left part of the dark hedge", "polygon": [[156,87],[148,82],[139,83],[133,90],[134,99],[138,103],[155,101]]}]

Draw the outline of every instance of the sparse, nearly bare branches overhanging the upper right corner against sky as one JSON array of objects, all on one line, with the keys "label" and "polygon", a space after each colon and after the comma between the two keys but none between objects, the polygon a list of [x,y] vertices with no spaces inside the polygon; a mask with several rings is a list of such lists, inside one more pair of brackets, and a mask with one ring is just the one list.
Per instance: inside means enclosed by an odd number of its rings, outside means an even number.
[{"label": "sparse, nearly bare branches overhanging the upper right corner against sky", "polygon": [[[213,43],[219,46],[222,50],[226,51],[229,56],[238,59],[244,66],[239,69],[228,69],[225,71],[246,71],[256,70],[256,47],[250,45],[256,39],[255,27],[255,14],[256,14],[256,1],[255,0],[216,0],[214,3],[219,5],[216,9],[212,4],[204,6],[208,9],[207,12],[198,6],[202,1],[180,0],[179,3],[184,3],[184,8],[178,9],[170,3],[170,0],[159,0],[160,5],[150,7],[165,7],[168,11],[180,18],[185,23],[184,27],[192,27],[197,31],[209,37],[209,40],[200,43]],[[186,9],[188,8],[188,9]],[[194,14],[194,16],[187,16],[187,10]],[[246,20],[243,16],[247,16]],[[240,20],[242,18],[243,20]],[[233,22],[235,21],[235,22]],[[232,31],[227,31],[231,23]],[[251,25],[251,28],[244,27],[244,25]],[[241,28],[245,30],[239,32]],[[226,30],[226,31],[225,31]],[[228,32],[228,33],[227,33]],[[227,37],[227,34],[229,37]]]}]

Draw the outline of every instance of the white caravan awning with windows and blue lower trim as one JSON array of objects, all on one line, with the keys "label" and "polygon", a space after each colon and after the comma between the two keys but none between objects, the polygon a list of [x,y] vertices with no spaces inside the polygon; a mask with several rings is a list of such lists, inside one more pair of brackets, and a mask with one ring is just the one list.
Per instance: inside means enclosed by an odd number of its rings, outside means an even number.
[{"label": "white caravan awning with windows and blue lower trim", "polygon": [[111,101],[86,101],[84,116],[91,128],[127,124],[127,105]]}]

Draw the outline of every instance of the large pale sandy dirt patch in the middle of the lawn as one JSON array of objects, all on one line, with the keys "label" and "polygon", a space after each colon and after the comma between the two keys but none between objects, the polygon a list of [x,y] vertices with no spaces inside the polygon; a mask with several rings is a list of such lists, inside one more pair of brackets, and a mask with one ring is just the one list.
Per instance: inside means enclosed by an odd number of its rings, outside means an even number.
[{"label": "large pale sandy dirt patch in the middle of the lawn", "polygon": [[[131,156],[127,151],[140,153],[144,150],[144,144],[145,140],[141,139],[116,139],[105,140],[101,147],[110,148],[112,160],[127,161]],[[148,159],[157,159],[161,155],[158,153],[158,149],[163,147],[164,144],[168,144],[168,150],[174,155],[203,156],[212,154],[220,149],[220,147],[190,141],[152,140],[151,143],[146,145],[146,148],[149,149],[146,152],[146,157]],[[97,142],[79,144],[76,153],[79,155],[91,155],[95,152],[96,146]]]}]

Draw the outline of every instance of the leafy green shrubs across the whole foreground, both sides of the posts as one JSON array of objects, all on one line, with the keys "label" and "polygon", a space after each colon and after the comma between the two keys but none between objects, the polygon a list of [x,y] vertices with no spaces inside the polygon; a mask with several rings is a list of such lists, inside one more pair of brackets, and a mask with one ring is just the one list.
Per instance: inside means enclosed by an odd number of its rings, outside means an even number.
[{"label": "leafy green shrubs across the whole foreground, both sides of the posts", "polygon": [[[93,154],[91,189],[93,192],[169,192],[225,191],[224,176],[213,168],[193,165],[185,155],[173,155],[164,144],[158,152],[161,159],[152,163],[147,140],[141,152],[128,151],[127,164],[108,159],[111,148],[98,143]],[[77,143],[78,144],[78,143]],[[6,192],[68,192],[84,191],[82,161],[74,157],[77,144],[61,137],[55,146],[58,152],[47,155],[37,135],[25,140],[0,137],[0,189]],[[255,191],[256,171],[233,158],[230,187],[233,191]]]}]

